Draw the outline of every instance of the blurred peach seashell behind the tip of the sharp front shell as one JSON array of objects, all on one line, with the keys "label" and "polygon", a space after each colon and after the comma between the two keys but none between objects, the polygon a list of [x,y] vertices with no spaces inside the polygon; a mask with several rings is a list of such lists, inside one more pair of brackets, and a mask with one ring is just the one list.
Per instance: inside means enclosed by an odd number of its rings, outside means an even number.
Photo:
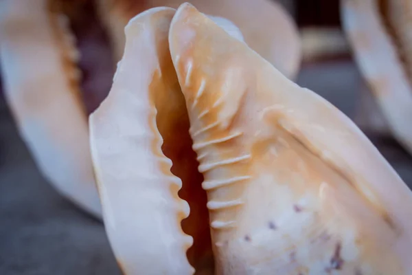
[{"label": "blurred peach seashell behind the tip of the sharp front shell", "polygon": [[[178,8],[182,0],[97,0],[100,17],[111,36],[116,62],[124,50],[124,26],[139,12],[157,6]],[[288,78],[295,78],[301,63],[297,25],[282,5],[268,0],[192,0],[203,13],[229,20],[253,50]],[[281,37],[282,39],[279,39]]]}]

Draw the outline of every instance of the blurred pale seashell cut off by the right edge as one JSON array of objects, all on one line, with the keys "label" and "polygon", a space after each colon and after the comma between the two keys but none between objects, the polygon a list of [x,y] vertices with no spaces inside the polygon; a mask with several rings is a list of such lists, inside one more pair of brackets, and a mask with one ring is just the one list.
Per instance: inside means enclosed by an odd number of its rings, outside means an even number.
[{"label": "blurred pale seashell cut off by the right edge", "polygon": [[412,4],[345,0],[343,28],[393,135],[412,153]]}]

